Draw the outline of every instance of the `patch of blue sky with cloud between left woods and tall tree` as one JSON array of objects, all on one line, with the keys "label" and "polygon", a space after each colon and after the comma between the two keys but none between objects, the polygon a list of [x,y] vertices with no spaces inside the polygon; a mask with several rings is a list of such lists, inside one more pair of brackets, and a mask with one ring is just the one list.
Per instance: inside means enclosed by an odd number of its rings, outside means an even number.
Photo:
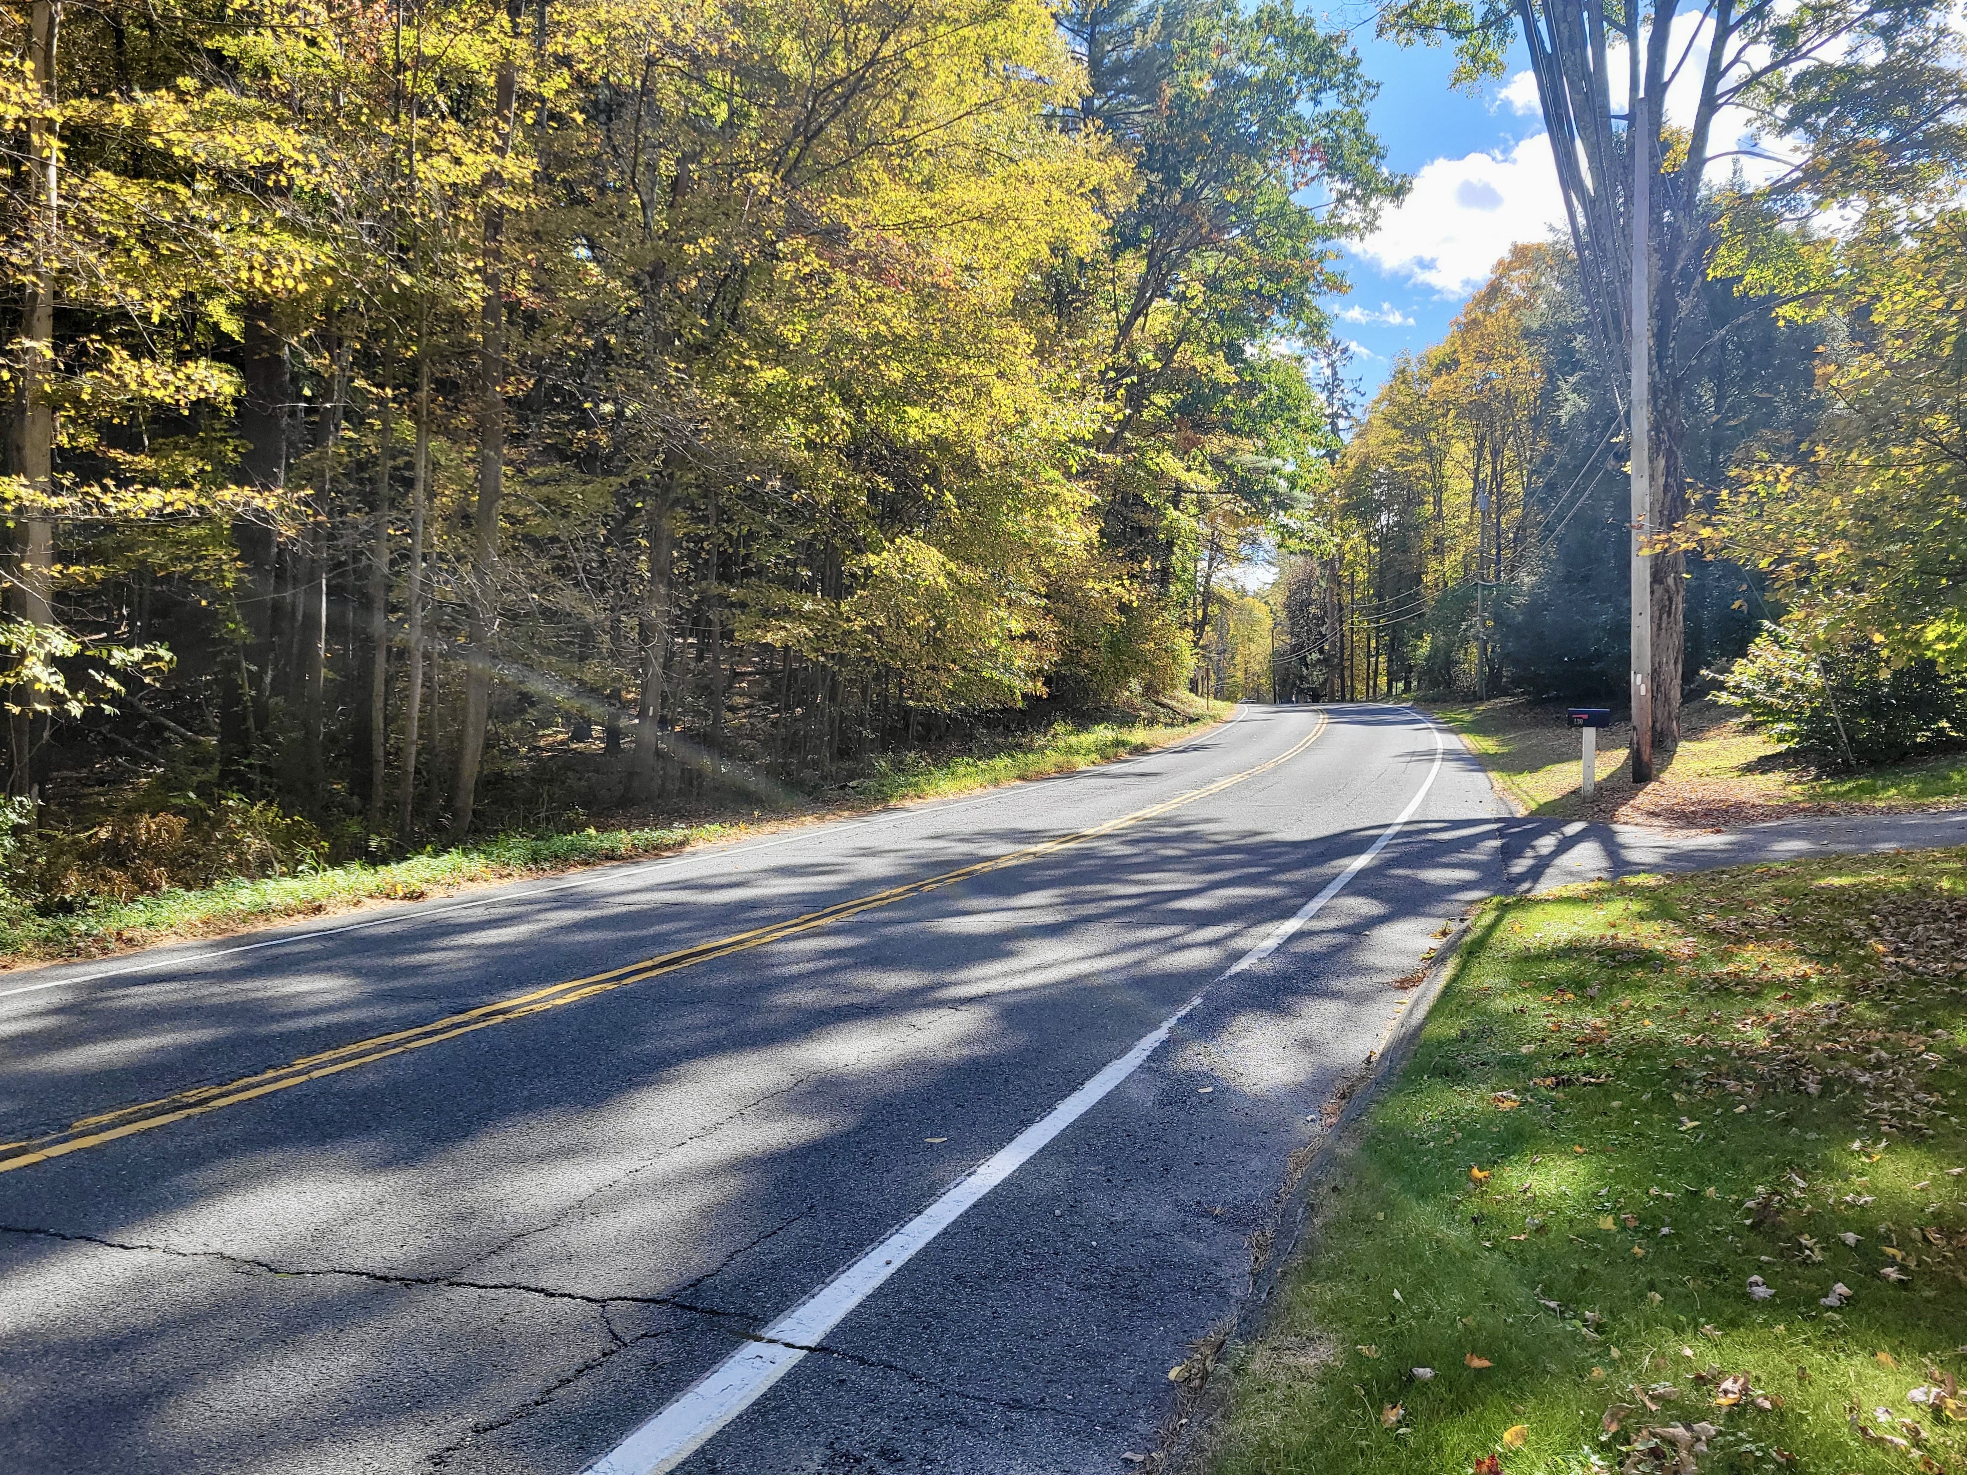
[{"label": "patch of blue sky with cloud between left woods and tall tree", "polygon": [[1336,303],[1338,330],[1355,346],[1353,374],[1369,399],[1393,356],[1438,342],[1497,258],[1542,240],[1562,203],[1520,41],[1509,73],[1479,96],[1450,88],[1446,47],[1402,49],[1377,39],[1371,22],[1353,41],[1379,83],[1373,128],[1389,163],[1414,175],[1406,205],[1345,252],[1353,291]]}]

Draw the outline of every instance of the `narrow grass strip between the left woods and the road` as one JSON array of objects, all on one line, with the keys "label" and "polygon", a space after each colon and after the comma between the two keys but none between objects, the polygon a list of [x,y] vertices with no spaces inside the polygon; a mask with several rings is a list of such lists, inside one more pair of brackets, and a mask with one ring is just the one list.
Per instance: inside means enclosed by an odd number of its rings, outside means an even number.
[{"label": "narrow grass strip between the left woods and the road", "polygon": [[877,767],[869,777],[826,795],[812,806],[781,814],[761,816],[747,810],[747,818],[728,822],[500,836],[393,863],[354,861],[301,875],[238,879],[197,891],[159,891],[61,914],[39,914],[16,903],[0,913],[0,966],[96,958],[167,938],[218,936],[366,903],[421,901],[470,885],[667,856],[787,822],[1068,773],[1190,738],[1231,710],[1225,702],[1192,706],[1194,712],[1184,722],[1060,722],[1048,732],[997,739],[985,751],[909,755],[905,761]]}]

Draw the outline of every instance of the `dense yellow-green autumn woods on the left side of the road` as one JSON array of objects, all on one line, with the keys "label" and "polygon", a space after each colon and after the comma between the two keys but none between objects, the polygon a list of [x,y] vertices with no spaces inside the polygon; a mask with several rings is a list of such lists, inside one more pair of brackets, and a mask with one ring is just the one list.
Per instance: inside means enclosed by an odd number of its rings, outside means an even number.
[{"label": "dense yellow-green autumn woods on the left side of the road", "polygon": [[6,26],[39,834],[348,856],[1180,690],[1214,570],[1308,502],[1290,344],[1401,191],[1277,4]]}]

